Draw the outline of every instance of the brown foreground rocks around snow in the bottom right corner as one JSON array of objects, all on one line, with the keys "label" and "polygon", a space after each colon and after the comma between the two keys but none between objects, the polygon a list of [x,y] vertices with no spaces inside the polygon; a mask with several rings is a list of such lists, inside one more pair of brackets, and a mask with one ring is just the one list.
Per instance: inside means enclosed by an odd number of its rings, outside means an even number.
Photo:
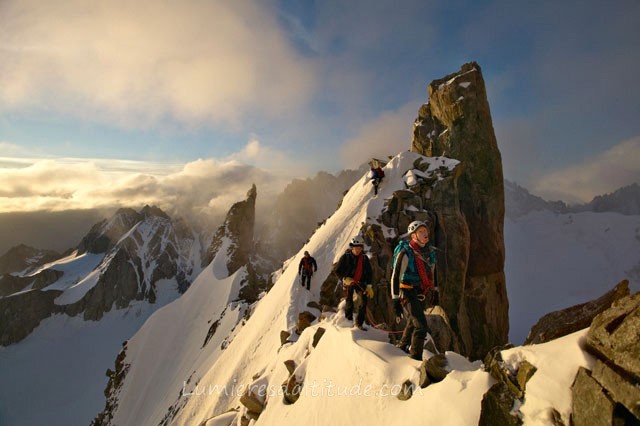
[{"label": "brown foreground rocks around snow in the bottom right corner", "polygon": [[[547,325],[555,324],[550,319],[559,320],[559,325],[535,334],[546,342],[552,336],[559,338],[578,331],[574,328],[585,321],[590,323],[580,329],[588,327],[580,345],[595,357],[595,363],[591,370],[580,367],[574,378],[571,425],[640,424],[640,293],[628,293],[628,283],[623,281],[599,299],[546,315],[543,319]],[[566,327],[564,320],[572,316],[575,320]],[[522,424],[517,407],[525,402],[527,382],[537,369],[526,359],[520,360],[515,369],[505,365],[502,350],[510,347],[496,347],[484,360],[485,370],[497,383],[482,400],[481,425]],[[552,424],[566,424],[567,419],[563,420],[556,410],[550,415]]]}]

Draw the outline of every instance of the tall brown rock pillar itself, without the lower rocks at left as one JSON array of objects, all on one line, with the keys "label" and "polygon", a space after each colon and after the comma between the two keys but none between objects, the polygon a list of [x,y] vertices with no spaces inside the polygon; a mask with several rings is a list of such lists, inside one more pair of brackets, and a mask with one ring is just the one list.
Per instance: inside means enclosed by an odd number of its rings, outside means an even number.
[{"label": "tall brown rock pillar itself, without the lower rocks at left", "polygon": [[[447,313],[454,327],[459,327],[469,355],[481,358],[490,348],[504,344],[509,332],[502,160],[478,64],[465,64],[458,73],[433,81],[428,92],[429,103],[420,108],[414,124],[411,149],[426,156],[446,153],[462,162],[458,192],[446,196],[457,196],[469,232],[469,250],[466,262],[459,260],[455,269],[464,273],[455,290],[464,295],[462,305],[457,312],[450,312],[450,306]],[[464,226],[457,228],[462,232]],[[464,238],[452,233],[449,237]],[[449,267],[451,272],[454,269]]]}]

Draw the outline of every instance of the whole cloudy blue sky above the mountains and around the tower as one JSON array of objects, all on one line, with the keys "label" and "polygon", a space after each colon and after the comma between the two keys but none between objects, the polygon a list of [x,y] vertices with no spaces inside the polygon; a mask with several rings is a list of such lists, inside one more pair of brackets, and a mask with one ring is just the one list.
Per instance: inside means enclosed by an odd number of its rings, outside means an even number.
[{"label": "whole cloudy blue sky above the mountains and around the tower", "polygon": [[226,209],[354,169],[408,149],[427,85],[469,61],[505,178],[590,201],[640,181],[639,21],[635,0],[2,0],[0,212]]}]

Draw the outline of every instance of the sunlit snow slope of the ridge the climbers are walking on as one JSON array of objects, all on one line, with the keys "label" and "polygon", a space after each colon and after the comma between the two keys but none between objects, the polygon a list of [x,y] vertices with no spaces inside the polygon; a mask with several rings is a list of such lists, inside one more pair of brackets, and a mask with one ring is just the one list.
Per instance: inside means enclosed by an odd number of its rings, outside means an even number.
[{"label": "sunlit snow slope of the ridge the climbers are walking on", "polygon": [[[257,424],[394,424],[398,419],[423,424],[477,424],[482,395],[493,383],[479,362],[447,353],[452,370],[447,378],[426,389],[417,388],[410,400],[400,401],[396,398],[400,385],[406,380],[414,384],[418,381],[419,362],[387,343],[383,331],[354,330],[340,310],[300,336],[295,333],[299,313],[309,310],[319,316],[307,306],[319,299],[319,283],[362,223],[375,220],[384,199],[404,188],[405,179],[410,178],[405,173],[413,168],[416,156],[405,152],[387,165],[377,197],[373,197],[366,176],[351,188],[341,207],[289,260],[273,288],[252,307],[246,323],[236,327],[223,351],[210,344],[202,348],[202,343],[207,321],[229,303],[230,298],[224,295],[233,292],[225,290],[223,297],[212,295],[220,291],[220,286],[229,288],[235,281],[233,277],[216,278],[211,272],[215,267],[207,268],[203,272],[206,275],[194,284],[191,298],[187,299],[187,293],[157,312],[129,342],[125,358],[129,370],[115,395],[117,407],[111,424],[152,425],[162,419],[166,421],[162,424],[172,425],[230,424],[245,414],[239,401],[247,387],[265,405]],[[304,250],[318,262],[311,291],[297,282],[297,264]],[[185,327],[185,322],[190,326]],[[325,332],[314,346],[312,341],[320,327]],[[281,345],[283,330],[291,333],[294,342]],[[219,331],[220,338],[228,332]],[[578,340],[568,337],[560,344],[570,356],[563,356],[557,368],[575,371],[585,363]],[[514,355],[511,362],[536,359],[534,365],[540,364],[544,371],[543,361],[551,355],[543,347]],[[548,353],[557,355],[554,350]],[[294,404],[285,402],[281,387],[289,377],[284,364],[288,360],[295,363],[294,374],[303,383],[302,394]],[[554,401],[538,399],[529,404],[529,424],[540,424],[550,407],[566,413],[570,393],[565,385],[562,382]]]}]

